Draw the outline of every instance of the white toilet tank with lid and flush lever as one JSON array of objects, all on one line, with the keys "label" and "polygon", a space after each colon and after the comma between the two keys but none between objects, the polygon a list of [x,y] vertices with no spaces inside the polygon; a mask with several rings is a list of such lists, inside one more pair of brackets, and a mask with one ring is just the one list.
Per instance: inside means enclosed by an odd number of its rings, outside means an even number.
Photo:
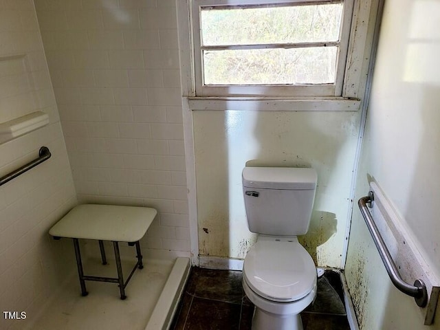
[{"label": "white toilet tank with lid and flush lever", "polygon": [[314,168],[245,167],[242,181],[249,230],[274,236],[306,234],[317,179]]}]

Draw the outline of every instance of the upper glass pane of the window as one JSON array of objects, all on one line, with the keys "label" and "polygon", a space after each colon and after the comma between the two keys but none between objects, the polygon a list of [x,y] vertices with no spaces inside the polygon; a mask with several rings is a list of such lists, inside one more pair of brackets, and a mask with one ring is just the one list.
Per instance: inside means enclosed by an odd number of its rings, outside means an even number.
[{"label": "upper glass pane of the window", "polygon": [[341,17],[342,3],[201,8],[201,43],[207,46],[338,41]]}]

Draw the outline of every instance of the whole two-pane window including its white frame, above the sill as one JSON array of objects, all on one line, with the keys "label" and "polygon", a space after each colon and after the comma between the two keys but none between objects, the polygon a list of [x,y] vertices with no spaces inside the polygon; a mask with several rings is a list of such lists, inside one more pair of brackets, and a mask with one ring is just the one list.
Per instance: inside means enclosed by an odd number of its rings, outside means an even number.
[{"label": "whole two-pane window including its white frame, above the sill", "polygon": [[342,96],[353,0],[194,0],[196,96]]}]

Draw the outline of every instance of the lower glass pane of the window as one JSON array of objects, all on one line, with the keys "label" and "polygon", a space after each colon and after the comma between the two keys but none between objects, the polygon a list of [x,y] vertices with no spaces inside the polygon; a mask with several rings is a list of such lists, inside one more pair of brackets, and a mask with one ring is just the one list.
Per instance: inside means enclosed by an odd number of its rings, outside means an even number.
[{"label": "lower glass pane of the window", "polygon": [[338,47],[206,50],[205,85],[309,85],[335,82]]}]

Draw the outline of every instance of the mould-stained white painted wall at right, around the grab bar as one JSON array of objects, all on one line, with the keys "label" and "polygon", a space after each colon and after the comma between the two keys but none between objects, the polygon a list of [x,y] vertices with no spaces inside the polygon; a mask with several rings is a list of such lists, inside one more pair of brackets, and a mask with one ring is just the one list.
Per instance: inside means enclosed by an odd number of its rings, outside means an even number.
[{"label": "mould-stained white painted wall at right, around the grab bar", "polygon": [[[376,181],[440,274],[439,1],[387,0],[356,198]],[[358,209],[346,276],[361,329],[428,329],[393,287]],[[437,275],[438,276],[438,275]],[[429,329],[440,329],[440,313]]]}]

